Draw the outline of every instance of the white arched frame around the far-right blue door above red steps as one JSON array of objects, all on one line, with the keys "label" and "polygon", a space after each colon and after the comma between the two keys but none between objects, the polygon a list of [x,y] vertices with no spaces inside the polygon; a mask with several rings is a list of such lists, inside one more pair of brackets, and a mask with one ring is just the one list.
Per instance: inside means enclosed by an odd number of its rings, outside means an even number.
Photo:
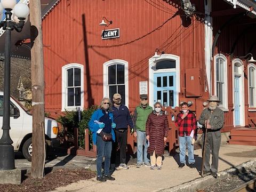
[{"label": "white arched frame around the far-right blue door above red steps", "polygon": [[[235,65],[236,65],[236,63],[239,63],[239,71],[238,71],[238,73],[235,73]],[[243,63],[243,61],[241,60],[241,59],[234,59],[233,61],[232,61],[232,77],[233,77],[233,103],[235,103],[235,95],[234,95],[234,89],[235,89],[235,75],[237,75],[237,76],[240,76],[240,78],[239,78],[239,89],[240,89],[240,96],[241,97],[239,97],[239,102],[241,103],[241,110],[240,110],[240,125],[241,126],[244,126],[245,125],[245,117],[244,117],[244,98],[245,98],[245,96],[244,96],[244,63]],[[235,107],[235,106],[234,106]],[[233,115],[233,123],[234,123],[234,125],[235,125],[235,113],[233,113],[234,115]]]}]

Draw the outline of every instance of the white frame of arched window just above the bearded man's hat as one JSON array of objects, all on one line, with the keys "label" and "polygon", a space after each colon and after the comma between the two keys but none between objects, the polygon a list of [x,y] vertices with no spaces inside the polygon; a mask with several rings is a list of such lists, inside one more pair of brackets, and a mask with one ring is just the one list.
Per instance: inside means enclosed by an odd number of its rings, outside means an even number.
[{"label": "white frame of arched window just above the bearded man's hat", "polygon": [[[223,111],[228,111],[228,71],[227,71],[227,58],[225,55],[219,53],[214,56],[214,94],[217,95],[217,59],[223,59],[223,90],[222,90],[222,104],[219,107]],[[220,99],[220,98],[219,98]]]}]

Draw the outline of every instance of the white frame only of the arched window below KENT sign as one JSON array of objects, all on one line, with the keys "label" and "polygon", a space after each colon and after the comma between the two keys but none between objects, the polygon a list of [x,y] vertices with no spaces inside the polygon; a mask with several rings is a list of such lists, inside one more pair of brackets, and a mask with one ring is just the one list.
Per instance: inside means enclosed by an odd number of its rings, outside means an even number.
[{"label": "white frame only of the arched window below KENT sign", "polygon": [[[124,65],[124,84],[125,84],[125,106],[129,106],[129,81],[128,81],[128,62],[122,59],[112,59],[103,63],[103,97],[109,98],[108,89],[108,67],[111,65],[121,64]],[[112,101],[112,98],[110,98]]]}]

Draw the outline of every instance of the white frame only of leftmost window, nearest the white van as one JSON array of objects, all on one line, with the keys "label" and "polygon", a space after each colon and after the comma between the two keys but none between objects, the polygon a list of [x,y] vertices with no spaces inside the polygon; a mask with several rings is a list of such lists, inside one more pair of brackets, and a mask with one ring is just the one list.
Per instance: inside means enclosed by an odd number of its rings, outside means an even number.
[{"label": "white frame only of leftmost window, nearest the white van", "polygon": [[[79,68],[81,70],[81,106],[68,106],[68,94],[67,94],[67,70],[70,68]],[[69,63],[62,67],[62,91],[61,91],[61,111],[73,111],[80,107],[84,109],[84,66],[78,63]]]}]

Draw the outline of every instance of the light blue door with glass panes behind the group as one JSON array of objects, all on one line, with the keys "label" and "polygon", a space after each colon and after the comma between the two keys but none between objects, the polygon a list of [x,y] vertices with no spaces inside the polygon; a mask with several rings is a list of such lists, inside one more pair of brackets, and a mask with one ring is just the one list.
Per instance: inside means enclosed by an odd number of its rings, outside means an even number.
[{"label": "light blue door with glass panes behind the group", "polygon": [[161,102],[163,106],[176,105],[176,74],[154,73],[154,103]]}]

